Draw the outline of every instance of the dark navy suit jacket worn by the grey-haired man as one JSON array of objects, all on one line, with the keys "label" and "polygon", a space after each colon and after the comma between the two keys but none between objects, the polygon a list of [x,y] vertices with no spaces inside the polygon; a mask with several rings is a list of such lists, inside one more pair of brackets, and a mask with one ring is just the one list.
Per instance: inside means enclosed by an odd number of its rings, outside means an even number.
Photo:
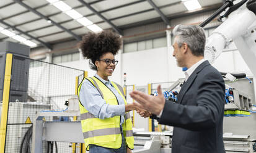
[{"label": "dark navy suit jacket worn by the grey-haired man", "polygon": [[208,60],[183,84],[178,102],[166,100],[159,123],[174,126],[172,153],[222,153],[225,85]]}]

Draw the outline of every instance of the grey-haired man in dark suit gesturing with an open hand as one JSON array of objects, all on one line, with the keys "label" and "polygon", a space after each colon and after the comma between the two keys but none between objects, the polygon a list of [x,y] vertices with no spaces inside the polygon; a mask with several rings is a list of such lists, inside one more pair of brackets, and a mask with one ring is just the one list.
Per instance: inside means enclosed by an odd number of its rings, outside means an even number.
[{"label": "grey-haired man in dark suit gesturing with an open hand", "polygon": [[158,96],[133,91],[138,107],[159,117],[162,125],[174,126],[172,153],[223,153],[225,86],[221,74],[204,59],[205,32],[196,25],[177,25],[173,30],[174,53],[179,67],[187,67],[185,83],[174,103]]}]

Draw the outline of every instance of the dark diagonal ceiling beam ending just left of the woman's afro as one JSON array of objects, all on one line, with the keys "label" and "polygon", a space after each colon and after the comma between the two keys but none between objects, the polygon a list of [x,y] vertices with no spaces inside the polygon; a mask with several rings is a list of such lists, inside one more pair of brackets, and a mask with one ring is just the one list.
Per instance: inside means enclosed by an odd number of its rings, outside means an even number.
[{"label": "dark diagonal ceiling beam ending just left of the woman's afro", "polygon": [[[40,12],[38,12],[37,10],[33,9],[30,6],[27,6],[24,2],[20,1],[20,0],[13,0],[17,3],[19,3],[21,6],[25,7],[26,9],[30,10],[31,12],[33,12],[34,14],[37,14],[38,16],[42,17],[45,20],[49,20],[47,17],[45,17],[45,15],[41,14]],[[81,41],[81,36],[76,35],[75,33],[73,33],[72,31],[68,30],[67,28],[64,28],[62,25],[54,22],[53,20],[51,20],[51,23],[53,25],[55,25],[58,28],[61,28],[62,30],[66,31],[67,33],[69,33],[70,35],[72,35],[77,41]]]}]

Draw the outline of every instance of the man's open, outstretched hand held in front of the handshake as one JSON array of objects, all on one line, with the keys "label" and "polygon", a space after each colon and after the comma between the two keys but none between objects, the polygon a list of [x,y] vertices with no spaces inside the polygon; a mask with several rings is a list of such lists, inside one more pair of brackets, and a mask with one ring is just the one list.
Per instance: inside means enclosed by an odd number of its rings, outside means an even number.
[{"label": "man's open, outstretched hand held in front of the handshake", "polygon": [[159,115],[161,110],[164,109],[164,95],[162,94],[161,86],[157,86],[158,96],[149,96],[140,91],[132,91],[130,96],[135,99],[138,103],[134,102],[137,107],[146,109],[152,114]]}]

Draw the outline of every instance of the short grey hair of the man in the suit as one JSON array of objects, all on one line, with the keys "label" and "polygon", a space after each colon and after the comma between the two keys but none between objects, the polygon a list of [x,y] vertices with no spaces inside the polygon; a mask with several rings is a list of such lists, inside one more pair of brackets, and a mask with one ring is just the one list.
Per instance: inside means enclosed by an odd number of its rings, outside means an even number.
[{"label": "short grey hair of the man in the suit", "polygon": [[177,25],[172,31],[177,36],[179,48],[183,43],[188,44],[188,48],[194,56],[204,56],[205,52],[205,30],[198,25]]}]

